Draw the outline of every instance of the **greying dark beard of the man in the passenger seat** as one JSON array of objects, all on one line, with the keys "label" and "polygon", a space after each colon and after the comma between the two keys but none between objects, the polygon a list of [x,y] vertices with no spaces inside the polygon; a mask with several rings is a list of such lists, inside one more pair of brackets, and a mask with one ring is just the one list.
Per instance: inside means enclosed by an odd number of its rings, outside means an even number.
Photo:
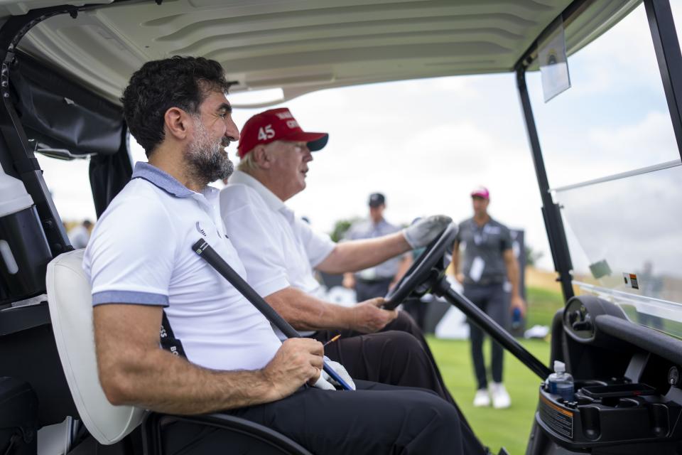
[{"label": "greying dark beard of the man in the passenger seat", "polygon": [[190,176],[202,186],[228,178],[234,171],[234,164],[223,151],[229,140],[223,138],[216,142],[215,139],[211,139],[200,120],[195,119],[195,125],[197,125],[195,140],[185,150],[185,161]]}]

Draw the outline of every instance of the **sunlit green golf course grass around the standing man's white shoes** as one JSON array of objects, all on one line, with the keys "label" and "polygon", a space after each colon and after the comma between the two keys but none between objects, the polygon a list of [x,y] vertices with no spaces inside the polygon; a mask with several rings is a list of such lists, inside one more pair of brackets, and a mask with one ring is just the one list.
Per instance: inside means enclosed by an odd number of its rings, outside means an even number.
[{"label": "sunlit green golf course grass around the standing man's white shoes", "polygon": [[[527,293],[529,304],[527,326],[534,324],[548,326],[556,310],[563,304],[561,295],[538,288],[529,288]],[[492,407],[475,408],[472,401],[476,385],[469,341],[437,338],[429,338],[428,341],[445,384],[483,444],[489,446],[495,454],[504,446],[511,455],[523,455],[538,402],[540,378],[531,373],[519,360],[505,353],[504,385],[511,395],[511,407],[507,410],[494,410]],[[548,363],[548,340],[522,340],[521,344],[544,363]],[[488,341],[484,349],[486,360],[489,362]]]}]

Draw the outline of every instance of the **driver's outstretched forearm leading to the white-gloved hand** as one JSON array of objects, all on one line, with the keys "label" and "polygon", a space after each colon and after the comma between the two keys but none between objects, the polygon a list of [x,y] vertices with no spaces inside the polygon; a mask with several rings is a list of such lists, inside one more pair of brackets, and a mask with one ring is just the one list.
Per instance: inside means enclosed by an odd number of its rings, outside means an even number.
[{"label": "driver's outstretched forearm leading to the white-gloved hand", "polygon": [[332,274],[357,272],[409,250],[411,247],[402,232],[373,239],[350,240],[337,244],[316,268]]}]

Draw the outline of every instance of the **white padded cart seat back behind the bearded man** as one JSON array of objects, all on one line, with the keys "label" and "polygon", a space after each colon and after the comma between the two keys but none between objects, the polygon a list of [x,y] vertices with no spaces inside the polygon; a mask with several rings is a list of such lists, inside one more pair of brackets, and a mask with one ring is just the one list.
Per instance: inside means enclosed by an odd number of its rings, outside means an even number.
[{"label": "white padded cart seat back behind the bearded man", "polygon": [[82,269],[84,251],[63,253],[48,264],[46,284],[50,318],[80,419],[101,444],[114,444],[142,422],[146,411],[133,406],[112,405],[99,384],[92,294]]}]

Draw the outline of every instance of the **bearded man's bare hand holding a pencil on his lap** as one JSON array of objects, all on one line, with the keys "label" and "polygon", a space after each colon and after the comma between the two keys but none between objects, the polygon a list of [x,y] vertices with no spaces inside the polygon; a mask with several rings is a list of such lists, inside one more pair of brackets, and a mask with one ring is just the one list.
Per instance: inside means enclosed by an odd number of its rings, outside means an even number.
[{"label": "bearded man's bare hand holding a pencil on his lap", "polygon": [[281,400],[308,382],[313,385],[323,367],[324,348],[312,338],[289,338],[263,369],[272,384],[274,400]]}]

